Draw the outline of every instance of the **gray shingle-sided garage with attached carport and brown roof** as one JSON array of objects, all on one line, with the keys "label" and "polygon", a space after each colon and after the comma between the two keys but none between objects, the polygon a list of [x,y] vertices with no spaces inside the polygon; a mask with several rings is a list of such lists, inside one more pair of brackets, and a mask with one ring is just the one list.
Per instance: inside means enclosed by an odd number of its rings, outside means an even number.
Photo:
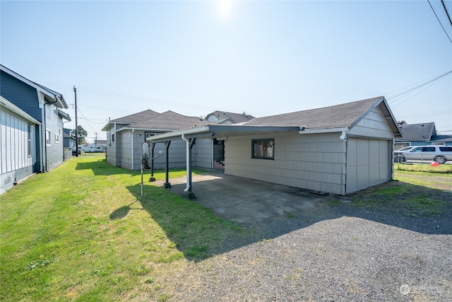
[{"label": "gray shingle-sided garage with attached carport and brown roof", "polygon": [[393,178],[396,137],[401,137],[398,124],[386,99],[378,97],[243,124],[198,125],[149,139],[155,144],[186,140],[186,158],[192,157],[188,146],[194,139],[196,144],[198,139],[222,140],[225,174],[347,194]]}]

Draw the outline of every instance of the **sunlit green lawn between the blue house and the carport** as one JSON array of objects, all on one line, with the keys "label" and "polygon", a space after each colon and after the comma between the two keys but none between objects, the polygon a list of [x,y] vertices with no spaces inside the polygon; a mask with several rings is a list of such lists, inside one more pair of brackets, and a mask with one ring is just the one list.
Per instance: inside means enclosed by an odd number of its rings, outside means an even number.
[{"label": "sunlit green lawn between the blue house and the carport", "polygon": [[171,274],[242,236],[149,182],[141,198],[140,182],[139,172],[81,156],[2,194],[0,300],[167,301]]}]

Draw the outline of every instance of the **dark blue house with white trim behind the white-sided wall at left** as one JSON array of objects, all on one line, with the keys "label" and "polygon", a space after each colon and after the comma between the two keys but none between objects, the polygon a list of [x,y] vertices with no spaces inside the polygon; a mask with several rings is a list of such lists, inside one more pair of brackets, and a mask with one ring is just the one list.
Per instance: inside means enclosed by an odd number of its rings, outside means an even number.
[{"label": "dark blue house with white trim behind the white-sided wall at left", "polygon": [[[30,81],[3,65],[0,65],[0,71],[0,95],[36,121],[30,124],[32,149],[27,156],[30,156],[31,170],[27,173],[52,170],[64,161],[63,120],[71,120],[62,111],[68,108],[66,100],[61,93]],[[4,115],[6,118],[6,113]],[[12,120],[2,118],[2,127],[16,126],[13,126]],[[14,137],[1,136],[2,153],[7,152],[5,149],[14,143],[13,139]],[[29,149],[20,150],[28,152]],[[2,169],[3,165],[2,162]]]}]

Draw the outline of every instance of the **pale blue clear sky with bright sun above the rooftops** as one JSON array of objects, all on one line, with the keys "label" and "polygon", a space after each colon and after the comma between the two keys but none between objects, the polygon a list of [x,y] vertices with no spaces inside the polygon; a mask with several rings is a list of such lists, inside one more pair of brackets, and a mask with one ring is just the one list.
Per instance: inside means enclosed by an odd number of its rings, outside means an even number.
[{"label": "pale blue clear sky with bright sun above the rooftops", "polygon": [[147,109],[263,117],[380,95],[396,120],[452,134],[439,0],[1,0],[0,34],[1,64],[64,95],[65,128],[76,86],[88,141]]}]

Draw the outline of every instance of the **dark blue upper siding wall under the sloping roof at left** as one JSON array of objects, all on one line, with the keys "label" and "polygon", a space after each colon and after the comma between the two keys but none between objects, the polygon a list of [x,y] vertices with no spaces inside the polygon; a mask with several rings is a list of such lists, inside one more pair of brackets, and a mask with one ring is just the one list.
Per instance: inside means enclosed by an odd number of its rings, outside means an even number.
[{"label": "dark blue upper siding wall under the sloping roof at left", "polygon": [[41,109],[37,100],[37,91],[23,81],[0,72],[0,95],[27,112],[36,120],[42,122]]}]

